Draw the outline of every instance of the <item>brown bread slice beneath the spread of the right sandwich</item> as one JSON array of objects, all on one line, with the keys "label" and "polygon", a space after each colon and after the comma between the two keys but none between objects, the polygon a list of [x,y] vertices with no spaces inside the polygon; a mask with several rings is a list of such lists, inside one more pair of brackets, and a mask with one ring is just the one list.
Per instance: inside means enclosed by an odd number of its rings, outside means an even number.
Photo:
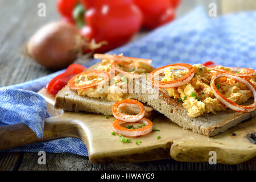
[{"label": "brown bread slice beneath the spread of the right sandwich", "polygon": [[[170,98],[168,93],[164,92],[165,90],[159,90],[158,92],[158,89],[144,78],[135,80],[134,89],[138,89],[138,87],[140,89],[139,92],[131,94],[133,98],[152,106],[156,111],[166,115],[172,122],[177,123],[183,129],[191,129],[195,133],[208,137],[222,133],[256,115],[256,110],[251,113],[226,110],[217,112],[217,114],[205,114],[197,118],[191,118],[187,115],[187,109],[182,106],[182,102]],[[144,92],[141,93],[141,90]],[[152,94],[156,94],[154,99],[151,99]]]}]

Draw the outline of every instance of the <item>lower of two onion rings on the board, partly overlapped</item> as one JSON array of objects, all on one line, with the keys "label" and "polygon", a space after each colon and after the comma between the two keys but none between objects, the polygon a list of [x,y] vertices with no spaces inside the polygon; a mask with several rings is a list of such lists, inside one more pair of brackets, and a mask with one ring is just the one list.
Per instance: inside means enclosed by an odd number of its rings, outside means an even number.
[{"label": "lower of two onion rings on the board, partly overlapped", "polygon": [[144,123],[146,126],[139,129],[126,129],[125,127],[121,126],[123,123],[126,123],[125,121],[115,119],[112,124],[112,130],[117,134],[121,134],[123,137],[139,137],[142,135],[146,135],[152,131],[153,123],[150,120],[142,118],[137,122]]}]

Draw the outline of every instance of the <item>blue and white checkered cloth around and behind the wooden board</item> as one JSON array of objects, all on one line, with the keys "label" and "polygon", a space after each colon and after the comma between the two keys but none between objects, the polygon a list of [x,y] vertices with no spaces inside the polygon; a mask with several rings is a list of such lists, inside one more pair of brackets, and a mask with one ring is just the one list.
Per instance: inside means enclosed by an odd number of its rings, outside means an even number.
[{"label": "blue and white checkered cloth around and behind the wooden board", "polygon": [[[109,53],[123,53],[125,56],[152,59],[154,67],[172,63],[197,64],[212,60],[220,65],[256,69],[256,11],[210,18],[202,7],[197,7],[182,18],[157,28],[143,38],[114,49]],[[97,61],[93,60],[85,66],[89,67]],[[61,72],[63,71],[6,88],[38,92],[47,82]],[[23,123],[35,131],[38,137],[42,137],[42,118],[43,116],[47,117],[47,113],[45,113],[45,107],[38,108],[38,104],[45,106],[45,101],[35,93],[22,90],[10,90],[8,92],[6,88],[0,90],[0,98],[5,100],[5,97],[10,97],[5,102],[19,104],[19,109],[26,108],[26,111],[23,110],[23,115],[25,115],[22,120]],[[19,96],[24,94],[23,96],[27,98],[17,97],[16,94],[19,94]],[[16,101],[14,102],[15,96]],[[31,98],[33,101],[29,101]],[[25,106],[22,107],[24,100],[33,107],[34,113],[38,113],[38,116],[33,114],[33,118],[38,120],[26,118],[26,112],[30,114],[32,112],[31,110],[28,111],[28,105],[24,104]],[[2,102],[0,104],[2,105]],[[0,110],[0,121],[5,122],[2,123],[2,126],[18,122],[18,119],[13,122],[10,118],[8,119],[8,115],[12,114],[12,111],[16,114],[15,117],[23,117],[19,110],[15,110],[15,107],[11,107],[13,110],[9,110],[7,105],[6,107],[2,105]],[[5,111],[9,114],[5,114]],[[43,113],[45,115],[42,115]],[[6,115],[6,121],[2,117],[3,114]],[[30,144],[6,151],[38,152],[40,150],[71,152],[88,156],[85,144],[80,139],[71,137]]]}]

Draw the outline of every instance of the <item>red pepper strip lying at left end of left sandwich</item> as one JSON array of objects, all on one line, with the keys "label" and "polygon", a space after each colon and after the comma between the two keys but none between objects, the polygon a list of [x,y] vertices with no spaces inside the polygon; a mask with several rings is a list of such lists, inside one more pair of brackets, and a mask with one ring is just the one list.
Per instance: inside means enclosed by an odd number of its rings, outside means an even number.
[{"label": "red pepper strip lying at left end of left sandwich", "polygon": [[68,84],[68,81],[75,75],[85,71],[86,68],[81,64],[71,64],[66,69],[64,73],[54,77],[47,85],[46,89],[50,94],[57,94],[65,85]]}]

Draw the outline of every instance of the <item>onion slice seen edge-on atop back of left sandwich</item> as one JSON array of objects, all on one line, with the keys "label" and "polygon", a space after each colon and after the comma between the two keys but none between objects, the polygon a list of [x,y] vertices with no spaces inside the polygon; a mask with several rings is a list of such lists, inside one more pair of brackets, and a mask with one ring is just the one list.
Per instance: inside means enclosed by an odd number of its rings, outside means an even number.
[{"label": "onion slice seen edge-on atop back of left sandwich", "polygon": [[109,55],[109,54],[101,54],[94,53],[94,59],[108,59],[108,60],[117,60],[117,61],[143,61],[144,63],[151,64],[151,59],[142,59],[137,57],[125,57],[125,56],[117,56],[117,55]]}]

